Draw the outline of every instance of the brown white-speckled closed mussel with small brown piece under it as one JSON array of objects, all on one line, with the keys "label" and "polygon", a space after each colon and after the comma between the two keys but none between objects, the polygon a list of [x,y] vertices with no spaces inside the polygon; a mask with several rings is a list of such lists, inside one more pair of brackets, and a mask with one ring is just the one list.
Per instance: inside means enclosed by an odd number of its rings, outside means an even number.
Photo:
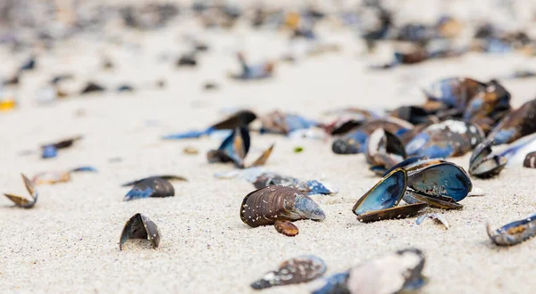
[{"label": "brown white-speckled closed mussel with small brown piece under it", "polygon": [[251,227],[276,225],[276,230],[296,235],[297,227],[289,222],[300,219],[322,221],[325,214],[305,192],[269,185],[246,195],[240,205],[240,219]]}]

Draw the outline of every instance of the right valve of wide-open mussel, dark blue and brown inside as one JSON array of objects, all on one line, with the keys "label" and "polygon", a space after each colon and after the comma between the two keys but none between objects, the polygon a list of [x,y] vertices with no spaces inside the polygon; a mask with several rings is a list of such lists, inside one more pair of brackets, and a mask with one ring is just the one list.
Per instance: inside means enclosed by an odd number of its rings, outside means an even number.
[{"label": "right valve of wide-open mussel, dark blue and brown inside", "polygon": [[473,189],[473,183],[463,167],[441,162],[407,174],[407,187],[429,197],[450,197],[463,200]]}]

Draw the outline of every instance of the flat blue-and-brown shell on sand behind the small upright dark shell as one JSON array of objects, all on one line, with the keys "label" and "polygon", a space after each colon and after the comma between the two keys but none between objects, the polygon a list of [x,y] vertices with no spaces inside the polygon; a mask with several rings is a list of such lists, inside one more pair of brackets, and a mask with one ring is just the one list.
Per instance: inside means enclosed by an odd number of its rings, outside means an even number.
[{"label": "flat blue-and-brown shell on sand behind the small upright dark shell", "polygon": [[168,180],[187,181],[182,176],[149,176],[140,180],[132,181],[122,186],[132,185],[132,189],[125,195],[124,200],[136,200],[147,197],[175,196],[175,189]]}]

